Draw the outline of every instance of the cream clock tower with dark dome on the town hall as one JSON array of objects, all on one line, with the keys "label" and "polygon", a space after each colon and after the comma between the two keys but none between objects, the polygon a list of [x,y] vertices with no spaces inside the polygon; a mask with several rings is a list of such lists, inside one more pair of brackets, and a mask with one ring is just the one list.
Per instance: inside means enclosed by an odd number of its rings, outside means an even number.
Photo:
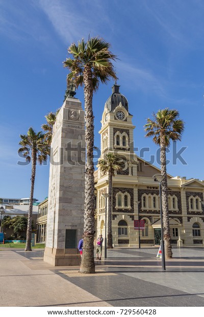
[{"label": "cream clock tower with dark dome on the town hall", "polygon": [[117,174],[135,175],[137,166],[134,155],[133,116],[129,112],[129,104],[125,96],[119,91],[119,85],[114,84],[112,95],[105,103],[99,131],[101,158],[108,152],[114,152],[122,157],[124,165]]}]

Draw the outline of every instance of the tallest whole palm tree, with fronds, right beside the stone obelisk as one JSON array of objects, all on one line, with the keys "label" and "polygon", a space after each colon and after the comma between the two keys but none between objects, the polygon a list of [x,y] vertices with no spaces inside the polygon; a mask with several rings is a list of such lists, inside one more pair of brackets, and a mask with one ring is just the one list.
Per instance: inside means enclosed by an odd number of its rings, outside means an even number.
[{"label": "tallest whole palm tree, with fronds, right beside the stone obelisk", "polygon": [[82,39],[78,44],[72,43],[68,53],[72,58],[64,61],[70,73],[67,82],[73,82],[78,88],[84,85],[85,99],[85,210],[84,210],[84,247],[80,273],[95,273],[94,264],[94,116],[93,93],[98,89],[99,83],[107,83],[111,78],[117,79],[112,61],[116,56],[110,52],[110,44],[99,37],[92,37],[87,42]]}]

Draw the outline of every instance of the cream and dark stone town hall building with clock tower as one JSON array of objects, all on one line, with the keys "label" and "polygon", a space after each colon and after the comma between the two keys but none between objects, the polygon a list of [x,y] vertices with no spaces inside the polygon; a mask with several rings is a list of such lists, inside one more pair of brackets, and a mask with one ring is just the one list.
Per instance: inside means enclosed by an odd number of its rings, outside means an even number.
[{"label": "cream and dark stone town hall building with clock tower", "polygon": [[[115,86],[115,85],[114,85]],[[128,102],[125,106],[117,100],[122,100],[119,93],[119,86],[113,86],[113,94],[105,104],[102,118],[108,113],[108,120],[101,121],[101,138],[104,131],[108,133],[108,151],[117,148],[117,154],[122,157],[127,166],[122,171],[117,171],[113,177],[112,189],[112,233],[114,246],[138,246],[139,233],[134,229],[134,220],[144,220],[145,227],[140,231],[141,245],[155,245],[158,242],[158,233],[161,234],[160,223],[160,199],[159,185],[154,182],[152,176],[160,173],[160,169],[148,164],[133,152],[133,129],[132,115],[129,114]],[[117,95],[118,94],[118,95]],[[115,97],[117,95],[117,98]],[[111,106],[110,100],[114,100]],[[108,109],[108,110],[107,110]],[[117,120],[116,112],[120,110],[124,114],[124,119]],[[108,112],[107,112],[108,111]],[[115,134],[126,133],[129,139],[130,148],[115,146]],[[102,143],[101,143],[102,144]],[[106,153],[107,153],[106,149]],[[101,157],[104,157],[103,149]],[[104,189],[108,192],[108,175],[97,174],[95,188],[97,193]],[[204,246],[204,211],[201,201],[204,200],[204,183],[198,179],[186,179],[180,176],[172,177],[168,175],[168,196],[169,196],[169,221],[172,243],[186,246]],[[131,208],[116,209],[116,195],[118,192],[127,192],[131,196]],[[146,195],[147,207],[143,206],[143,196]],[[197,197],[197,208],[199,210],[189,210],[189,198]],[[155,198],[154,198],[155,197]],[[139,203],[137,203],[139,201]],[[154,207],[155,205],[155,207]],[[121,220],[123,220],[121,222]],[[105,223],[105,209],[100,205],[96,208],[96,231],[105,234],[105,228],[101,225]],[[120,227],[120,223],[126,224]]]}]

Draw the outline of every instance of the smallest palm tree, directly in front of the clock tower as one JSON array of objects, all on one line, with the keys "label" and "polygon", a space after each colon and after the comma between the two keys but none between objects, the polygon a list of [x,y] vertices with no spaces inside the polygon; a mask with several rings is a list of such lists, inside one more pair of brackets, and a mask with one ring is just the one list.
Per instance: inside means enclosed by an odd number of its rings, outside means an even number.
[{"label": "smallest palm tree, directly in front of the clock tower", "polygon": [[100,170],[108,173],[109,177],[109,189],[108,189],[108,241],[107,248],[113,248],[113,236],[112,236],[112,188],[113,188],[113,176],[114,172],[121,169],[121,163],[119,157],[113,153],[105,155],[104,159],[98,161]]}]

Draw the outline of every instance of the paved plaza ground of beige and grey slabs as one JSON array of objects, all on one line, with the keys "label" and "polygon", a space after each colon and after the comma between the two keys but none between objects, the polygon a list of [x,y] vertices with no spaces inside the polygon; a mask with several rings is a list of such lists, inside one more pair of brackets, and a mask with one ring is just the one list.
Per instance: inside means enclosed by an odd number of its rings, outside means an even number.
[{"label": "paved plaza ground of beige and grey slabs", "polygon": [[54,267],[42,250],[0,248],[0,306],[203,307],[204,248],[173,248],[162,271],[158,248],[116,248],[96,274]]}]

